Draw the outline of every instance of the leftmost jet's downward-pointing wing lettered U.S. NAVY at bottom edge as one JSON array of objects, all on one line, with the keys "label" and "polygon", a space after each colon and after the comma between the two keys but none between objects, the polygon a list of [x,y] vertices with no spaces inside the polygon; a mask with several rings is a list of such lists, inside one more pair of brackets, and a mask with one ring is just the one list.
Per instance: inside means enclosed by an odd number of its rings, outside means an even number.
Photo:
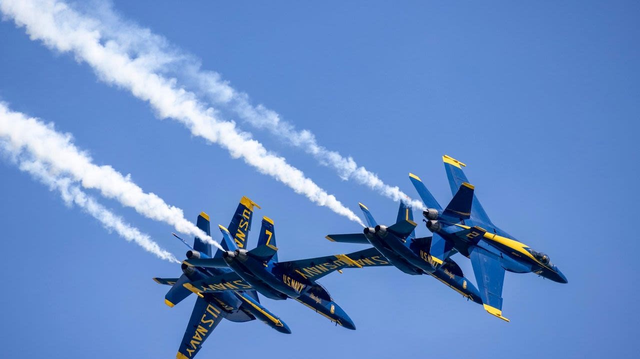
[{"label": "leftmost jet's downward-pointing wing lettered U.S. NAVY at bottom edge", "polygon": [[225,315],[226,313],[216,305],[198,297],[176,358],[193,358]]}]

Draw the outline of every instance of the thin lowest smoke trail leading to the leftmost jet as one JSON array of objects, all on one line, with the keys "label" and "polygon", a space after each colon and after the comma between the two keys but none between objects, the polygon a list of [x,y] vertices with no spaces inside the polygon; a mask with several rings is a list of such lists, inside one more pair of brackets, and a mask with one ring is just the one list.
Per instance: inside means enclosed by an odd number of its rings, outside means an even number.
[{"label": "thin lowest smoke trail leading to the leftmost jet", "polygon": [[12,158],[18,165],[20,171],[28,172],[50,190],[60,192],[60,195],[68,206],[76,205],[83,211],[97,219],[102,227],[110,231],[115,231],[127,241],[133,241],[147,252],[155,254],[158,258],[180,263],[180,261],[167,250],[161,248],[147,234],[141,233],[139,229],[124,222],[124,220],[107,208],[99,204],[93,197],[84,193],[77,185],[72,184],[70,178],[54,175],[42,162],[28,159],[20,149],[13,147],[10,142],[0,141],[0,148],[4,155]]}]

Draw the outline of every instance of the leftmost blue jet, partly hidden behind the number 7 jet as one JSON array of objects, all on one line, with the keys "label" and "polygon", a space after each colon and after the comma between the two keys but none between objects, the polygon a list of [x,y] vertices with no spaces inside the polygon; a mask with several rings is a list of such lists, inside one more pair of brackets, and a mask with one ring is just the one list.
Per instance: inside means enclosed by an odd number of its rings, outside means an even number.
[{"label": "leftmost blue jet, partly hidden behind the number 7 jet", "polygon": [[[232,229],[235,234],[234,242],[237,247],[246,247],[246,238],[251,229],[254,206],[257,206],[257,204],[247,197],[243,197],[231,220],[229,228]],[[259,206],[257,207],[260,208]],[[200,213],[197,225],[202,231],[211,235],[209,216],[206,213]],[[176,237],[179,238],[178,236]],[[186,241],[182,240],[182,238],[179,239],[190,248],[187,252],[187,258],[211,257],[211,245],[209,245],[209,243],[205,243],[196,237],[193,247],[191,247]],[[214,257],[219,258],[221,256],[222,252],[218,249]],[[154,278],[159,284],[172,286],[164,297],[164,303],[169,307],[173,307],[192,293],[192,291],[187,289],[192,282],[206,280],[207,278],[216,278],[219,275],[231,272],[231,270],[226,268],[198,268],[187,266],[186,264],[182,264],[182,271],[183,274],[180,278]],[[176,358],[193,358],[223,318],[234,322],[259,319],[278,332],[291,333],[291,330],[289,330],[289,327],[284,321],[260,305],[259,298],[255,291],[198,293],[198,298],[193,307],[193,312],[191,313],[191,318],[184,332],[184,337],[182,338]]]}]

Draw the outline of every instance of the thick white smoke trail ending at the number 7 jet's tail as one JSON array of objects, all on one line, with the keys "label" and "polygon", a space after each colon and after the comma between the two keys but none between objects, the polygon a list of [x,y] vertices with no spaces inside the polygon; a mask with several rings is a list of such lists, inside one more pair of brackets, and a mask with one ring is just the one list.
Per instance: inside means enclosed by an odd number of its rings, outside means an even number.
[{"label": "thick white smoke trail ending at the number 7 jet's tail", "polygon": [[13,148],[51,166],[51,171],[78,181],[84,188],[93,188],[107,198],[116,199],[141,215],[159,220],[182,233],[189,233],[220,247],[196,225],[184,218],[180,208],[169,206],[156,194],[145,193],[131,176],[123,176],[109,165],[98,166],[86,153],[71,142],[69,134],[56,132],[53,125],[13,112],[0,103],[0,138]]}]

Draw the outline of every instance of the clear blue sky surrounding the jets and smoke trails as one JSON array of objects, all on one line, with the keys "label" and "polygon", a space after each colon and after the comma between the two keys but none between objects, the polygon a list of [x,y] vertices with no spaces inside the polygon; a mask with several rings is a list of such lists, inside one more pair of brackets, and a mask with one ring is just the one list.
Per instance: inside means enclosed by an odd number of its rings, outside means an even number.
[{"label": "clear blue sky surrounding the jets and smoke trails", "polygon": [[[569,279],[508,273],[503,310],[511,323],[504,323],[426,276],[395,268],[335,273],[321,282],[355,332],[291,300],[263,299],[292,335],[223,321],[198,357],[637,355],[638,3],[115,1],[115,8],[408,194],[415,195],[411,171],[449,201],[440,157],[465,162],[493,222],[547,252]],[[204,210],[227,225],[248,195],[262,206],[257,215],[275,220],[281,260],[363,248],[324,240],[358,225],[159,121],[146,103],[7,21],[0,22],[0,99],[54,121],[97,163],[131,173],[193,220]],[[394,220],[394,202],[252,132],[353,210],[361,201],[381,222]],[[7,162],[0,178],[3,355],[172,358],[193,298],[170,309],[168,287],[151,278],[177,277],[179,266],[107,233]],[[184,256],[172,228],[102,202]],[[428,234],[422,225],[418,231]],[[468,259],[455,259],[472,277]]]}]

